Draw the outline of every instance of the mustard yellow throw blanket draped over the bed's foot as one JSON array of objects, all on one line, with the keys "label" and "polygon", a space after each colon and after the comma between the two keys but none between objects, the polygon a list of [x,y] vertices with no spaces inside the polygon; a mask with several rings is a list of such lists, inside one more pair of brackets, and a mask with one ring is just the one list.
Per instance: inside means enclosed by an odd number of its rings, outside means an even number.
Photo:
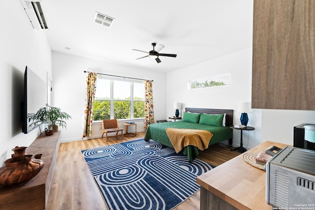
[{"label": "mustard yellow throw blanket draped over the bed's foot", "polygon": [[213,134],[207,130],[166,128],[166,133],[176,153],[188,145],[196,146],[199,150],[207,149]]}]

